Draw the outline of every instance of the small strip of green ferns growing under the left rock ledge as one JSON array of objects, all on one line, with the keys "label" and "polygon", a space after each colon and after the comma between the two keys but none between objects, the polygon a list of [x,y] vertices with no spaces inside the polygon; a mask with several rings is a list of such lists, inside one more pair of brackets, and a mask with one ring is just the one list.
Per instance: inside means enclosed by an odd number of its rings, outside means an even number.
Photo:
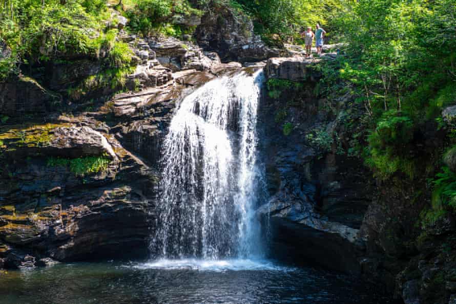
[{"label": "small strip of green ferns growing under the left rock ledge", "polygon": [[69,166],[70,171],[73,172],[76,176],[85,176],[90,173],[104,171],[108,168],[109,163],[110,160],[106,155],[87,156],[74,159],[50,157],[47,162],[49,167]]}]

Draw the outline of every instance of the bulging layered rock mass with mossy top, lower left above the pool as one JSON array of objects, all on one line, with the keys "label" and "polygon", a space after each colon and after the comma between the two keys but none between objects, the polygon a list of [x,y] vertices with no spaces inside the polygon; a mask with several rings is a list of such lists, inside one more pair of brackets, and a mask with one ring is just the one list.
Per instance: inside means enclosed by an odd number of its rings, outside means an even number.
[{"label": "bulging layered rock mass with mossy top, lower left above the pool", "polygon": [[[34,131],[35,130],[35,131]],[[88,126],[34,126],[48,131],[40,154],[0,158],[0,259],[4,267],[30,268],[55,260],[91,259],[147,251],[155,200],[153,170],[106,134]],[[7,135],[5,135],[7,134]],[[8,133],[0,137],[9,137]],[[3,150],[34,149],[5,141]],[[30,145],[30,147],[28,147]],[[49,149],[44,148],[48,146]],[[106,168],[77,175],[73,165],[49,158],[109,158]],[[5,158],[5,156],[7,156]],[[6,163],[7,162],[7,163]],[[152,216],[153,218],[153,216]],[[126,250],[135,248],[135,251]]]}]

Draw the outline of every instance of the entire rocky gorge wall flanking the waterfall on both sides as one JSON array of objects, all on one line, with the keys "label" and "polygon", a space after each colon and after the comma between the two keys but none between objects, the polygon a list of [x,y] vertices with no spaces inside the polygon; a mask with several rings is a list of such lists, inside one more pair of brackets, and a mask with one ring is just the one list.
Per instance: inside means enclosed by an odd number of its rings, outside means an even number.
[{"label": "entire rocky gorge wall flanking the waterfall on both sides", "polygon": [[[0,83],[0,268],[146,256],[176,103],[201,83],[266,64],[258,149],[270,201],[259,213],[271,223],[270,255],[380,281],[405,303],[455,303],[454,219],[425,234],[416,224],[430,200],[425,179],[376,180],[348,151],[347,123],[363,111],[354,97],[319,94],[318,60],[270,58],[294,52],[266,47],[250,21],[220,9],[223,22],[201,17],[197,44],[120,34],[135,53],[132,92],[68,98],[100,71],[94,58]],[[433,129],[417,134],[423,158],[443,145]]]}]

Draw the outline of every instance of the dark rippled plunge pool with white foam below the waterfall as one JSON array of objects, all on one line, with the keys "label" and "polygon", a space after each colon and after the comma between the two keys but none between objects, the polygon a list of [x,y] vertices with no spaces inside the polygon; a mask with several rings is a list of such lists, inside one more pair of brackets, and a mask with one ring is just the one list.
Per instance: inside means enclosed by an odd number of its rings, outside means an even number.
[{"label": "dark rippled plunge pool with white foam below the waterfall", "polygon": [[75,263],[0,274],[1,303],[390,303],[349,276],[270,262]]}]

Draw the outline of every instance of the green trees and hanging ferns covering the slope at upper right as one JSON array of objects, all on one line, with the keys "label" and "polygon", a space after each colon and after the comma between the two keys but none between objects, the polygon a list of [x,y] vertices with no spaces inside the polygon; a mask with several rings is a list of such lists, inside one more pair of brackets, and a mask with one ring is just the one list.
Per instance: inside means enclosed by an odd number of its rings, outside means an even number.
[{"label": "green trees and hanging ferns covering the slope at upper right", "polygon": [[345,56],[319,65],[319,93],[364,108],[358,121],[373,131],[350,145],[367,144],[361,155],[381,180],[417,175],[413,133],[429,119],[442,127],[442,108],[456,103],[455,15],[454,0],[361,0],[335,18]]}]

